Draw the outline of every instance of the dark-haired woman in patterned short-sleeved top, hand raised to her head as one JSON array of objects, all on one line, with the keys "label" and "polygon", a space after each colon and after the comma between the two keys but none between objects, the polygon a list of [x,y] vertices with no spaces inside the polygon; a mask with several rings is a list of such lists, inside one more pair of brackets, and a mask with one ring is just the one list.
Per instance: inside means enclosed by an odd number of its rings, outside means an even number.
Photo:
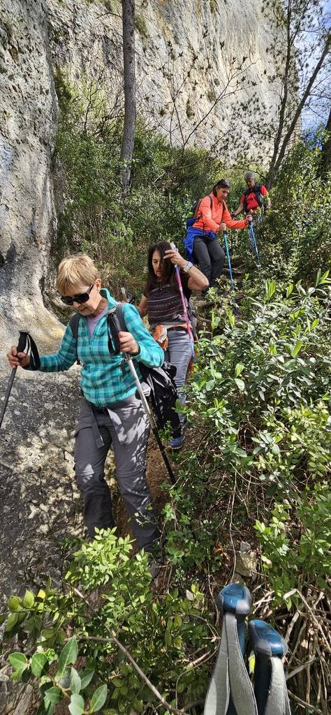
[{"label": "dark-haired woman in patterned short-sleeved top, hand raised to her head", "polygon": [[[192,290],[208,287],[207,278],[197,267],[172,250],[167,241],[160,241],[149,249],[147,282],[138,310],[142,317],[147,315],[153,337],[165,350],[165,359],[177,368],[175,382],[179,400],[184,405],[184,383],[192,352],[175,266],[179,266],[187,303]],[[184,415],[179,418],[183,428]],[[179,449],[182,443],[183,435],[180,435],[170,440],[169,446]]]}]

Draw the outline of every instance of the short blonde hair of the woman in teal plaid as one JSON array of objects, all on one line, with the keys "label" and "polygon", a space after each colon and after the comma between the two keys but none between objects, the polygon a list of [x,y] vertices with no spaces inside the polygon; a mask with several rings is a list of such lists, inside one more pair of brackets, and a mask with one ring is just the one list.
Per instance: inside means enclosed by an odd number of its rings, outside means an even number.
[{"label": "short blonde hair of the woman in teal plaid", "polygon": [[62,295],[66,295],[68,288],[91,285],[98,277],[99,273],[92,258],[86,253],[77,253],[61,261],[57,270],[56,287]]}]

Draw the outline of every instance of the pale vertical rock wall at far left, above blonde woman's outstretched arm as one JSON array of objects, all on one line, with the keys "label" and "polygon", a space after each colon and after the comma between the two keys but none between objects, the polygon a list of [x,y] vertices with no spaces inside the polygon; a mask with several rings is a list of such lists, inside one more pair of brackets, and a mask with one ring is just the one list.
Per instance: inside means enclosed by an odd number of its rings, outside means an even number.
[{"label": "pale vertical rock wall at far left, above blonde woman's outstretched arm", "polygon": [[[55,212],[51,151],[57,104],[41,0],[3,0],[0,7],[0,342],[19,327],[57,338],[42,288]],[[48,334],[48,335],[47,335]]]}]

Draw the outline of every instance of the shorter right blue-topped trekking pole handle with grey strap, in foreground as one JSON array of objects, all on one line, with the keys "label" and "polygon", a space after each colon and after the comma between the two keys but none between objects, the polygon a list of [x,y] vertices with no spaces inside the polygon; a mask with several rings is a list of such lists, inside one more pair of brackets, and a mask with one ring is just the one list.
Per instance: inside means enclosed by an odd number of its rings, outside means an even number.
[{"label": "shorter right blue-topped trekking pole handle with grey strap, in foreground", "polygon": [[255,652],[254,692],[258,715],[291,715],[282,664],[287,644],[265,621],[248,624],[250,644]]}]

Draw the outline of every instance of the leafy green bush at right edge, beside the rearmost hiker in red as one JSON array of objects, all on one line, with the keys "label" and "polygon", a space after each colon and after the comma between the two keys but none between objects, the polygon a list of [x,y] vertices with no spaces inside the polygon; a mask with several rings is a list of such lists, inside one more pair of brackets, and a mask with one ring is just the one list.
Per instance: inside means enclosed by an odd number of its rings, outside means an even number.
[{"label": "leafy green bush at right edge, beside the rearmost hiker in red", "polygon": [[319,176],[321,137],[298,142],[272,189],[272,211],[258,229],[272,275],[312,280],[330,267],[331,174]]}]

